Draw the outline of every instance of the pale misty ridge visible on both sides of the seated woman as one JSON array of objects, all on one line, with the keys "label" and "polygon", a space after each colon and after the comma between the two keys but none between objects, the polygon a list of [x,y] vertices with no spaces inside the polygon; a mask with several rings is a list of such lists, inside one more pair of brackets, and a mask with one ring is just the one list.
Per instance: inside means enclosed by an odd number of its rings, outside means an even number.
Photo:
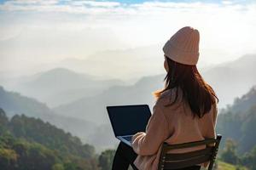
[{"label": "pale misty ridge visible on both sides of the seated woman", "polygon": [[[214,66],[207,71],[201,71],[202,76],[218,95],[218,108],[231,105],[236,97],[246,94],[247,89],[256,84],[252,63],[256,63],[255,55],[247,55],[230,63]],[[56,113],[73,115],[91,122],[108,122],[107,105],[148,104],[152,108],[154,105],[152,93],[164,87],[164,78],[164,74],[143,77],[133,85],[113,86],[101,94],[84,97],[53,109]],[[85,115],[84,112],[93,114]]]}]

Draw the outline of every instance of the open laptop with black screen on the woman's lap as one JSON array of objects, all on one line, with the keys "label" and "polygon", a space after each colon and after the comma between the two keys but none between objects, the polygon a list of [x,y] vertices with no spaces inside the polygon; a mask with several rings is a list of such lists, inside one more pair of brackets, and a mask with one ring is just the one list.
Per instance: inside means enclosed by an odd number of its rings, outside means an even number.
[{"label": "open laptop with black screen on the woman's lap", "polygon": [[130,146],[132,135],[145,132],[151,116],[148,105],[107,106],[107,111],[115,137]]}]

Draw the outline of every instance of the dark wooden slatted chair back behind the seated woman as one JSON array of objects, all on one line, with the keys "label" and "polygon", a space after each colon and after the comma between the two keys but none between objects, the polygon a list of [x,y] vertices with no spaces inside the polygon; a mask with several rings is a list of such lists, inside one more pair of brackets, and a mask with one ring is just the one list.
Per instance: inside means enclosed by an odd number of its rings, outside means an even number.
[{"label": "dark wooden slatted chair back behind the seated woman", "polygon": [[[205,139],[201,141],[189,142],[184,144],[167,144],[164,143],[160,153],[159,170],[179,169],[192,167],[210,161],[208,170],[212,170],[213,163],[218,153],[218,144],[221,140],[218,134],[216,139]],[[210,146],[211,144],[212,146]],[[199,145],[207,145],[203,150],[195,150],[186,153],[167,153],[169,150],[190,148]]]}]

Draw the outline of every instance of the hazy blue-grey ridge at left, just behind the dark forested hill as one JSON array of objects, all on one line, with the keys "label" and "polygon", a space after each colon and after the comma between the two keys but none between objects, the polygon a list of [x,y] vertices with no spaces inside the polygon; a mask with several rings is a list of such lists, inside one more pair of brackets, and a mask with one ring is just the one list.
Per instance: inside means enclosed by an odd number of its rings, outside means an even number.
[{"label": "hazy blue-grey ridge at left, just behind the dark forested hill", "polygon": [[87,135],[96,128],[94,123],[70,116],[57,115],[37,99],[6,91],[2,86],[0,86],[0,107],[6,111],[8,117],[24,114],[40,118],[44,122],[50,122],[56,127],[79,136],[84,142],[87,142],[85,141]]}]

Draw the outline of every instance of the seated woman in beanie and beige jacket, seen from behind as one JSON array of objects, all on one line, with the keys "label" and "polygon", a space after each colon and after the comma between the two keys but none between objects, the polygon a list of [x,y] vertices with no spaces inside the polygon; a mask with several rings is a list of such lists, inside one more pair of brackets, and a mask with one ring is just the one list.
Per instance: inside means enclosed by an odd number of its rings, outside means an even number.
[{"label": "seated woman in beanie and beige jacket, seen from behind", "polygon": [[[180,144],[216,137],[218,98],[196,68],[199,58],[199,31],[186,26],[166,42],[163,51],[165,88],[157,98],[146,132],[132,137],[132,148],[120,143],[113,159],[113,170],[156,170],[163,142]],[[172,150],[182,153],[203,149]],[[201,166],[183,169],[200,169]]]}]

